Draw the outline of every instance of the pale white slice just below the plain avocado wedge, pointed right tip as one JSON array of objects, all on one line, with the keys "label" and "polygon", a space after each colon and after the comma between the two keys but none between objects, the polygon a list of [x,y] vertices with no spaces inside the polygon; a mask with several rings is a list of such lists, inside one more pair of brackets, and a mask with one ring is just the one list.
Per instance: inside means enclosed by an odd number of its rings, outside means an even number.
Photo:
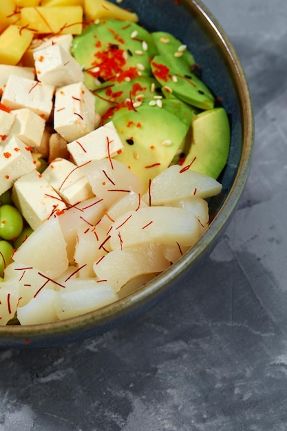
[{"label": "pale white slice just below the plain avocado wedge, pointed right tip", "polygon": [[187,196],[210,198],[221,189],[222,185],[214,178],[172,165],[153,178],[142,199],[151,205],[163,205]]}]

